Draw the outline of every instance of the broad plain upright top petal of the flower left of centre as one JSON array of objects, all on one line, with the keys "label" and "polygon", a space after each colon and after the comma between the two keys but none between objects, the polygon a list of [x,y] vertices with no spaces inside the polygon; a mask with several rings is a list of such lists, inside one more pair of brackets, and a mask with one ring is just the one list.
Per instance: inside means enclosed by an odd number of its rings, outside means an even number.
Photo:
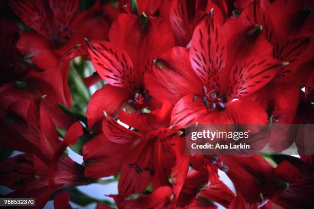
[{"label": "broad plain upright top petal of the flower left of centre", "polygon": [[174,38],[170,27],[162,19],[147,17],[143,30],[141,18],[146,17],[120,14],[110,28],[109,39],[127,52],[133,62],[136,81],[143,84],[143,75],[151,69],[152,60],[173,47]]}]

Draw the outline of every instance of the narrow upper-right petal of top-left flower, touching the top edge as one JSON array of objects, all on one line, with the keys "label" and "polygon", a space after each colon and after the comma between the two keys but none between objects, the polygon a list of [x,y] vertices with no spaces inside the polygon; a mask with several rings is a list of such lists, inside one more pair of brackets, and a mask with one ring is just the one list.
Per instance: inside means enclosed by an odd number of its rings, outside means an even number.
[{"label": "narrow upper-right petal of top-left flower, touching the top edge", "polygon": [[54,24],[56,26],[69,26],[70,22],[80,6],[76,0],[60,1],[49,0],[49,6],[54,16]]}]

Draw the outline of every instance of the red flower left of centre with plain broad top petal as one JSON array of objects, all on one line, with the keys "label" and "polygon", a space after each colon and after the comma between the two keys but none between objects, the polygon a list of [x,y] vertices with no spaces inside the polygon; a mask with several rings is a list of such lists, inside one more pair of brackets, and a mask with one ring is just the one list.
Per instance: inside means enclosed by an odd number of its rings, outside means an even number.
[{"label": "red flower left of centre with plain broad top petal", "polygon": [[121,14],[110,28],[109,39],[110,43],[88,41],[93,66],[108,82],[89,101],[86,115],[90,128],[103,118],[104,110],[114,117],[125,104],[135,111],[160,107],[147,92],[143,76],[152,60],[174,45],[169,26],[145,14]]}]

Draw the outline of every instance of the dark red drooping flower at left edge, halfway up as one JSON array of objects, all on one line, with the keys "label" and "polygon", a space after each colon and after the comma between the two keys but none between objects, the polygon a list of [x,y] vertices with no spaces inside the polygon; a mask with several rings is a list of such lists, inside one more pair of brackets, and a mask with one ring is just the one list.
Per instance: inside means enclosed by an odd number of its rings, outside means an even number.
[{"label": "dark red drooping flower at left edge, halfway up", "polygon": [[74,118],[65,115],[58,102],[71,108],[64,94],[63,76],[55,68],[49,68],[44,72],[31,71],[16,82],[10,82],[0,87],[0,118],[3,118],[9,110],[9,106],[17,102],[24,111],[28,110],[27,99],[42,99],[42,105],[49,112],[50,117],[57,127],[68,129]]}]

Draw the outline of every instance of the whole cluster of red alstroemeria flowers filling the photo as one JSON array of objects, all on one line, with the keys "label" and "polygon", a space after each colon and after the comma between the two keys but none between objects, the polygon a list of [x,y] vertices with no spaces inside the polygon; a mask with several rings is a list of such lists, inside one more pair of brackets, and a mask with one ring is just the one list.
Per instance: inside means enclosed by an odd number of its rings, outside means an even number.
[{"label": "whole cluster of red alstroemeria flowers filling the photo", "polygon": [[[188,156],[182,135],[194,123],[314,123],[313,1],[8,5],[22,21],[0,19],[0,141],[23,154],[0,163],[0,184],[14,190],[4,197],[36,198],[41,208],[55,191],[120,173],[119,194],[110,196],[119,208],[314,206],[311,155],[272,163],[261,155]],[[68,74],[78,56],[96,70],[87,87],[107,82],[86,118],[70,110]],[[67,155],[71,146],[82,165]],[[58,193],[54,205],[68,201]]]}]

